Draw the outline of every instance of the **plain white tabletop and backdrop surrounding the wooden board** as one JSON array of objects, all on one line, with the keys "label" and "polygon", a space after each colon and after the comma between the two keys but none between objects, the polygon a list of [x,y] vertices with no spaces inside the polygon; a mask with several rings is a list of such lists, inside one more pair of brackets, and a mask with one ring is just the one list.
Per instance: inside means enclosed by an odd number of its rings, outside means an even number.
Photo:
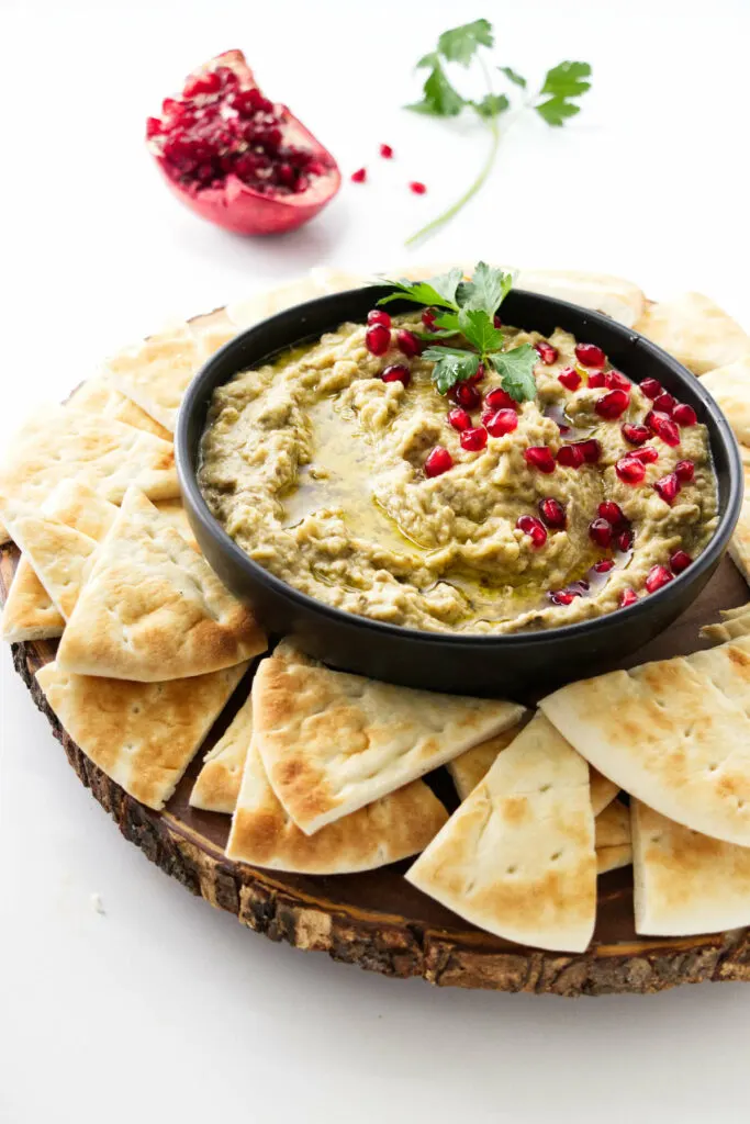
[{"label": "plain white tabletop and backdrop surrounding the wooden board", "polygon": [[[410,67],[479,16],[498,63],[541,76],[587,60],[594,90],[566,129],[518,124],[482,196],[410,260],[697,288],[750,327],[748,0],[0,0],[0,13],[1,442],[169,314],[315,264],[408,261],[404,236],[460,193],[486,143],[470,123],[404,112]],[[281,241],[182,210],[142,143],[183,74],[235,46],[345,175],[370,170]],[[378,158],[381,140],[397,160]],[[747,1120],[750,988],[441,991],[273,945],[119,837],[1,654],[3,1122]]]}]

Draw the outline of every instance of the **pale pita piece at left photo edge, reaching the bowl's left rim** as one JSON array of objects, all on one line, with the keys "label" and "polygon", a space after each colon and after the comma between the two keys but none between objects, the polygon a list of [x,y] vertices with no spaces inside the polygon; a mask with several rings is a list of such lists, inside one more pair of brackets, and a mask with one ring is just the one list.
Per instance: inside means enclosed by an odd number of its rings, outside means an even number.
[{"label": "pale pita piece at left photo edge, reaching the bowl's left rim", "polygon": [[64,480],[88,484],[112,504],[130,484],[154,500],[180,493],[171,444],[123,422],[51,406],[10,442],[0,498],[39,508]]}]

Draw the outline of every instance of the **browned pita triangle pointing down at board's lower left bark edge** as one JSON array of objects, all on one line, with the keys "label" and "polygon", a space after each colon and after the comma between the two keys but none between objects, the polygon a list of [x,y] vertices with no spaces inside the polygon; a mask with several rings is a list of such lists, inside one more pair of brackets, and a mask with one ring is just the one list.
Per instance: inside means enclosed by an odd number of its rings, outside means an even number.
[{"label": "browned pita triangle pointing down at board's lower left bark edge", "polygon": [[47,663],[36,678],[87,758],[136,800],[162,808],[246,668],[133,683],[69,674]]}]

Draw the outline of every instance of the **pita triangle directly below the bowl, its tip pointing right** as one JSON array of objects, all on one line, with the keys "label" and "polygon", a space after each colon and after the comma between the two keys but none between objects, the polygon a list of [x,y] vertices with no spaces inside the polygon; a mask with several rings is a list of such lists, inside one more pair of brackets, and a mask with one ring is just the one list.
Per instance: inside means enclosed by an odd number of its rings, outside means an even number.
[{"label": "pita triangle directly below the bowl, its tip pointing right", "polygon": [[253,700],[271,787],[308,835],[500,733],[524,709],[331,671],[286,641],[261,662]]}]

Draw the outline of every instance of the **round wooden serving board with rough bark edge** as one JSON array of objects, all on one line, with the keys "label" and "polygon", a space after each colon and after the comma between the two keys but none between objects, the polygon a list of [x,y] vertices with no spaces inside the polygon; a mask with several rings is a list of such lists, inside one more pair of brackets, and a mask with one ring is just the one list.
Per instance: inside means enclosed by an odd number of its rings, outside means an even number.
[{"label": "round wooden serving board with rough bark edge", "polygon": [[[3,601],[18,558],[13,546],[0,549]],[[629,665],[705,646],[699,626],[715,620],[720,608],[747,600],[744,581],[724,559],[695,605]],[[206,750],[246,696],[250,674],[166,808],[153,812],[93,765],[47,706],[34,676],[54,659],[55,649],[52,641],[13,644],[13,664],[81,782],[125,837],[165,873],[272,941],[327,952],[334,960],[385,976],[422,976],[432,984],[499,991],[578,996],[660,991],[704,980],[750,980],[750,928],[680,940],[636,936],[631,868],[599,879],[594,941],[587,952],[568,955],[512,944],[468,925],[401,877],[407,862],[336,877],[283,874],[233,862],[224,855],[229,817],[191,808],[188,798]],[[448,774],[437,770],[430,780],[453,808],[458,801]]]}]

